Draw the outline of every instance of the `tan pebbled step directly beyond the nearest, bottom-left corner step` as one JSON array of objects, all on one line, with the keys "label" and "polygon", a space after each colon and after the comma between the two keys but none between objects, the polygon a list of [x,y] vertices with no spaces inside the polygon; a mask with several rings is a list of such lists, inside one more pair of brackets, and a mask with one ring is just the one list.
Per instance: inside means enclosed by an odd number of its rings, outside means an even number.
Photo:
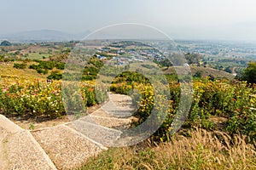
[{"label": "tan pebbled step directly beyond the nearest, bottom-left corner step", "polygon": [[58,169],[79,167],[106,149],[66,125],[33,131],[32,135]]}]

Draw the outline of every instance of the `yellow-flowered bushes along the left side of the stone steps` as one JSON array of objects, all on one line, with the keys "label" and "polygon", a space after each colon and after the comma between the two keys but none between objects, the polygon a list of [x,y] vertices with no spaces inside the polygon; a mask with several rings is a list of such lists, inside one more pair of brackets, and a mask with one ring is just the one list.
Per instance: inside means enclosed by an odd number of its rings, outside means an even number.
[{"label": "yellow-flowered bushes along the left side of the stone steps", "polygon": [[[0,111],[4,115],[52,118],[66,115],[61,99],[61,82],[20,80],[5,83],[8,80],[7,77],[0,83]],[[87,106],[97,103],[94,88],[89,86],[81,86],[84,105],[88,104]]]}]

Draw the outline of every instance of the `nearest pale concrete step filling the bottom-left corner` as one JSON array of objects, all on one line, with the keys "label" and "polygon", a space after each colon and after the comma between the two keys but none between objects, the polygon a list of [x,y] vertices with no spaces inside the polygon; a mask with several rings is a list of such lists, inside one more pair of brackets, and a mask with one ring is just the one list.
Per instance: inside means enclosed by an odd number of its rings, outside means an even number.
[{"label": "nearest pale concrete step filling the bottom-left corner", "polygon": [[[1,169],[56,169],[41,146],[29,131],[0,116],[1,131]],[[1,162],[2,164],[2,162]]]}]

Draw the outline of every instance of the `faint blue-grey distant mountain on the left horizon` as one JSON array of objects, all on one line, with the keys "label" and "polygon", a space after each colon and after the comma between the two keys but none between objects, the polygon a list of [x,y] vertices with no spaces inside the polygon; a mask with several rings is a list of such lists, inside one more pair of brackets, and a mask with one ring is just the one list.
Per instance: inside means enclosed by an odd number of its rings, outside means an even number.
[{"label": "faint blue-grey distant mountain on the left horizon", "polygon": [[81,40],[89,34],[89,31],[79,34],[69,34],[55,30],[38,30],[38,31],[23,31],[7,36],[1,36],[0,39],[7,39],[15,42],[46,42],[46,41],[71,41]]}]

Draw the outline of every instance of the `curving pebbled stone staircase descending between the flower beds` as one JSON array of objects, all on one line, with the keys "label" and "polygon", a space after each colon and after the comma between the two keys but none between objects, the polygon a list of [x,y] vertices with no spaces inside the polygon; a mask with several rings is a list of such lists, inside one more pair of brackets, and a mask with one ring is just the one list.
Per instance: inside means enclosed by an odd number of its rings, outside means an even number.
[{"label": "curving pebbled stone staircase descending between the flower beds", "polygon": [[28,131],[0,115],[0,169],[73,169],[108,150],[131,124],[131,98],[109,94],[102,108],[79,120]]}]

